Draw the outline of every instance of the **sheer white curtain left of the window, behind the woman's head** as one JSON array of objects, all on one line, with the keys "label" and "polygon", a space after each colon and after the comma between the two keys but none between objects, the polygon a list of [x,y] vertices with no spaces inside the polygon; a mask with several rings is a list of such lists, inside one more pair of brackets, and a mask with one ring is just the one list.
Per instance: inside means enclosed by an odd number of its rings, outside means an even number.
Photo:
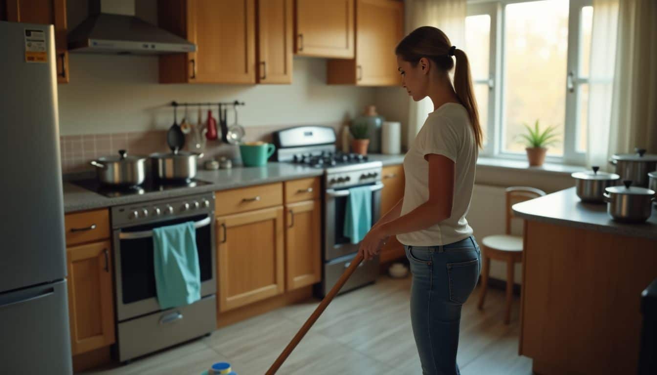
[{"label": "sheer white curtain left of the window, behind the woman's head", "polygon": [[[466,0],[407,0],[405,11],[406,33],[420,26],[435,26],[447,35],[452,45],[457,48],[463,47]],[[410,97],[409,100],[407,145],[410,147],[426,116],[434,110],[434,106],[428,97],[419,102],[415,102]]]}]

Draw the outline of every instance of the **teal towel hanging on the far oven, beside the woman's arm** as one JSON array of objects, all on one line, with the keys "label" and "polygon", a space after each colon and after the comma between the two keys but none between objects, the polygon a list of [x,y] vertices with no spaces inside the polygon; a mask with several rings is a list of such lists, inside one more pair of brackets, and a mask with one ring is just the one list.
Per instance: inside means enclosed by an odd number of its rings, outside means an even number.
[{"label": "teal towel hanging on the far oven, beside the woman's arm", "polygon": [[344,213],[344,236],[357,244],[372,227],[372,189],[369,186],[349,189]]}]

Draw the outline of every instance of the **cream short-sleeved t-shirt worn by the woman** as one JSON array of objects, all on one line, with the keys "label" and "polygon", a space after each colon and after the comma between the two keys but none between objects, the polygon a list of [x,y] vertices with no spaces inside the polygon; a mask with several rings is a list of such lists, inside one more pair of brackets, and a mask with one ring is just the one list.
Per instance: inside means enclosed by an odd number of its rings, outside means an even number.
[{"label": "cream short-sleeved t-shirt worn by the woman", "polygon": [[448,219],[432,227],[397,234],[397,240],[409,246],[446,245],[472,234],[465,215],[470,208],[479,148],[464,106],[443,104],[424,121],[404,157],[406,183],[401,215],[415,210],[429,199],[429,163],[424,160],[427,154],[443,155],[455,163],[452,211]]}]

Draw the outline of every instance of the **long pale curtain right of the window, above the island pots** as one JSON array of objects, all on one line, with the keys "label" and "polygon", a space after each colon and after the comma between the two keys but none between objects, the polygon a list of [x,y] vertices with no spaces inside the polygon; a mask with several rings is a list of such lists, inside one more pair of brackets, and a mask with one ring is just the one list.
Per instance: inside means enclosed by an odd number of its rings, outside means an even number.
[{"label": "long pale curtain right of the window, above the island pots", "polygon": [[593,0],[587,164],[657,153],[657,1]]}]

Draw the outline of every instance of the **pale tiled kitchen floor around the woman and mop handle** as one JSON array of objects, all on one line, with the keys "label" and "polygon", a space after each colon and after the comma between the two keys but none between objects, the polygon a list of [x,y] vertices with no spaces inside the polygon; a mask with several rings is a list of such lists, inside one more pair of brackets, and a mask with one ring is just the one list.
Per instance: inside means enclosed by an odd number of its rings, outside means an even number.
[{"label": "pale tiled kitchen floor around the woman and mop handle", "polygon": [[[421,374],[409,317],[410,288],[410,276],[381,276],[371,286],[336,297],[277,373]],[[532,374],[532,361],[518,356],[519,300],[505,326],[504,293],[489,289],[485,311],[476,308],[478,294],[479,288],[461,315],[461,374]],[[227,361],[239,375],[264,374],[317,303],[277,309],[127,366],[89,373],[198,375],[212,363]]]}]

